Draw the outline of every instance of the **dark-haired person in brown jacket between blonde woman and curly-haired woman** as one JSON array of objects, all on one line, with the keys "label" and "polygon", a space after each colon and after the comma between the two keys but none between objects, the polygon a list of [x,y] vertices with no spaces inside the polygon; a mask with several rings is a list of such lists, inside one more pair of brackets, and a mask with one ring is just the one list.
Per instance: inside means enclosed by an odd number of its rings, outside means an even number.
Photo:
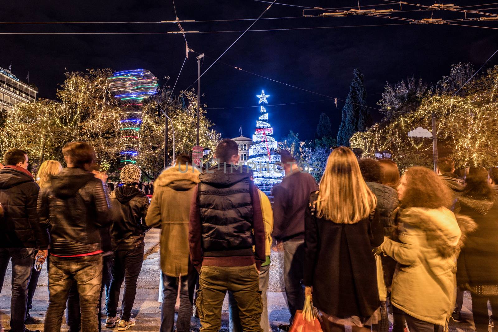
[{"label": "dark-haired person in brown jacket between blonde woman and curly-haired woman", "polygon": [[[384,229],[384,236],[390,236],[394,226],[393,212],[398,207],[398,193],[382,184],[382,168],[378,161],[373,159],[360,159],[358,161],[363,179],[367,183],[367,187],[372,191],[377,198],[376,209],[379,212],[380,221]],[[383,278],[387,289],[391,286],[392,276],[396,268],[396,261],[389,256],[382,256]],[[378,272],[378,271],[377,271]],[[389,320],[387,317],[386,302],[380,302],[381,320],[379,326],[376,327],[377,332],[387,332],[389,328]]]}]

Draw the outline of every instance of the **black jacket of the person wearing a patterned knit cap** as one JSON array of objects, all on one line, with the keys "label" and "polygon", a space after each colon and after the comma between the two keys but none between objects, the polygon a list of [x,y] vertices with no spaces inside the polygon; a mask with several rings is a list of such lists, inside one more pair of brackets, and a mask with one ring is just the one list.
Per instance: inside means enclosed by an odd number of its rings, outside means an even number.
[{"label": "black jacket of the person wearing a patterned knit cap", "polygon": [[149,199],[135,186],[121,186],[111,193],[113,250],[144,247],[145,216]]}]

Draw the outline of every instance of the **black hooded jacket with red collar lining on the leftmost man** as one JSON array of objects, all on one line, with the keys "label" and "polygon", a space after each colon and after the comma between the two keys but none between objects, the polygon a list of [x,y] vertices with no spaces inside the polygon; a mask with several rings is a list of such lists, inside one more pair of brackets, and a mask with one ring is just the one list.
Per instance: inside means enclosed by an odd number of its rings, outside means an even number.
[{"label": "black hooded jacket with red collar lining on the leftmost man", "polygon": [[46,223],[40,223],[36,200],[40,187],[33,178],[13,168],[0,170],[1,248],[46,249],[49,237]]}]

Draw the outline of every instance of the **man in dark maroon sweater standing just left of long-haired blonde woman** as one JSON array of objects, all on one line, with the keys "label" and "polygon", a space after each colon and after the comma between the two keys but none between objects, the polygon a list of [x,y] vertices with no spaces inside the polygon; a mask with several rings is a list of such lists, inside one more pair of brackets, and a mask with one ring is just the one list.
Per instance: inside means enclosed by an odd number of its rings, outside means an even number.
[{"label": "man in dark maroon sweater standing just left of long-haired blonde woman", "polygon": [[[308,208],[309,195],[316,191],[316,181],[297,164],[287,150],[280,151],[285,177],[271,189],[273,203],[273,238],[284,250],[284,284],[290,319],[296,310],[303,309],[304,289],[304,214]],[[279,325],[281,331],[289,331],[290,325]]]}]

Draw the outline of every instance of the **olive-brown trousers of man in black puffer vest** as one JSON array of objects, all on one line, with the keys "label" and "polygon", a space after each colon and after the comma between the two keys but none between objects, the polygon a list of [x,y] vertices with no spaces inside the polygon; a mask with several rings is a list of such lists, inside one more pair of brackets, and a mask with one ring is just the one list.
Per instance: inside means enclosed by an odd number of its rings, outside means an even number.
[{"label": "olive-brown trousers of man in black puffer vest", "polygon": [[221,328],[221,309],[227,291],[237,302],[242,329],[262,332],[259,326],[263,309],[255,265],[206,266],[201,268],[197,310],[201,319],[200,332],[218,332]]}]

